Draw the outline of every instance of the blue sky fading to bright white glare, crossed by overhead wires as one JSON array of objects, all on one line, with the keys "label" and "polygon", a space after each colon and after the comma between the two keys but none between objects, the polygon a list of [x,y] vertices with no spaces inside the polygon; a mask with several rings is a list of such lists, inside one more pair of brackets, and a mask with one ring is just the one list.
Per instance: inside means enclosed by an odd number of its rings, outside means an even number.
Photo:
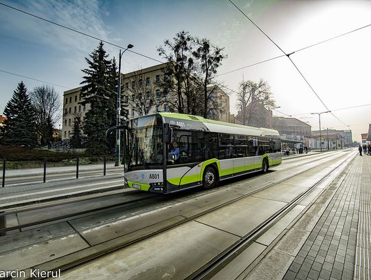
[{"label": "blue sky fading to bright white glare, crossed by overhead wires", "polygon": [[[227,54],[216,80],[231,89],[231,113],[237,113],[238,84],[262,78],[280,107],[274,116],[293,116],[317,130],[318,115],[311,113],[330,109],[333,114],[321,115],[322,129],[351,129],[360,141],[371,123],[371,1],[232,1],[271,40],[228,0],[0,0],[0,114],[21,80],[29,91],[52,84],[62,102],[63,91],[80,86],[85,58],[99,43],[2,3],[115,45],[131,43],[158,61],[164,60],[157,48],[181,30],[210,39]],[[107,43],[104,49],[110,58],[120,50]],[[282,51],[295,52],[289,58],[297,69],[287,56],[246,67]],[[122,73],[159,64],[150,58],[125,52]]]}]

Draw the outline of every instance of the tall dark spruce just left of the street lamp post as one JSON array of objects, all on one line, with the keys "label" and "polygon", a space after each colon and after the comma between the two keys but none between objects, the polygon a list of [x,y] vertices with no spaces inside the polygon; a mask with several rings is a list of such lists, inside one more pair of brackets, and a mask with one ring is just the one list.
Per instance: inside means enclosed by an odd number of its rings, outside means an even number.
[{"label": "tall dark spruce just left of the street lamp post", "polygon": [[100,42],[98,47],[85,58],[89,68],[82,69],[86,74],[82,81],[82,105],[90,104],[85,115],[84,133],[87,135],[87,153],[102,154],[109,151],[106,130],[115,124],[115,100],[117,74],[115,61],[109,56]]}]

